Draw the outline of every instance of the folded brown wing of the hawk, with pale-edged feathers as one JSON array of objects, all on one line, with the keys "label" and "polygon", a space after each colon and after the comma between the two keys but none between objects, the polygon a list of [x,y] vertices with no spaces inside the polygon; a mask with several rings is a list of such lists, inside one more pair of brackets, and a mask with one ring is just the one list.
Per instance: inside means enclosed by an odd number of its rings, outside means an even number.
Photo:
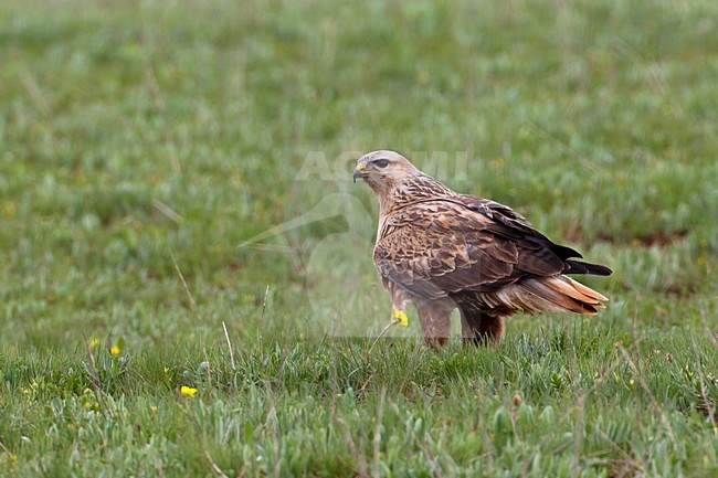
[{"label": "folded brown wing of the hawk, with pale-edged feathers", "polygon": [[421,202],[387,219],[374,265],[382,277],[425,299],[494,291],[525,276],[566,270],[564,261],[532,241],[530,231],[525,223],[510,227],[460,201]]}]

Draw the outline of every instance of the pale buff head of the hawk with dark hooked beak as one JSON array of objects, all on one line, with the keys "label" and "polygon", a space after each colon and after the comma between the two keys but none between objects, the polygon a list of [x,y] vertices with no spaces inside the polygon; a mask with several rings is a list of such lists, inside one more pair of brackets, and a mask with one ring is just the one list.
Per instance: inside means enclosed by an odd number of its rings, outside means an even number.
[{"label": "pale buff head of the hawk with dark hooked beak", "polygon": [[374,191],[388,191],[405,178],[419,173],[406,158],[394,151],[368,152],[357,161],[353,180],[363,179]]}]

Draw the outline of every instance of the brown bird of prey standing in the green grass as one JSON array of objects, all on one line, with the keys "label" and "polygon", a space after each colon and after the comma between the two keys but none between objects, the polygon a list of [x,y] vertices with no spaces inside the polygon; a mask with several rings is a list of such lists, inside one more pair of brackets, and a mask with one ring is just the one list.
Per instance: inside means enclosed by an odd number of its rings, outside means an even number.
[{"label": "brown bird of prey standing in the green grass", "polygon": [[411,302],[426,343],[443,344],[458,308],[465,341],[498,340],[515,312],[595,314],[608,300],[567,274],[608,276],[578,261],[520,214],[497,202],[460,194],[394,151],[359,158],[362,179],[379,200],[373,262],[394,310]]}]

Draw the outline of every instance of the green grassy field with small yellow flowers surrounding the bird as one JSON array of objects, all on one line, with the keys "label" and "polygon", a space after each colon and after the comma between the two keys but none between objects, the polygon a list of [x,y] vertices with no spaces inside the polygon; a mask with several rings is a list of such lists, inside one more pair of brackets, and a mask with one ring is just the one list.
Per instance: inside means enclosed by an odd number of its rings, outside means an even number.
[{"label": "green grassy field with small yellow flowers surrounding the bird", "polygon": [[[708,0],[3,2],[0,476],[715,476],[716,28]],[[379,148],[610,265],[609,308],[374,344],[350,159]]]}]

